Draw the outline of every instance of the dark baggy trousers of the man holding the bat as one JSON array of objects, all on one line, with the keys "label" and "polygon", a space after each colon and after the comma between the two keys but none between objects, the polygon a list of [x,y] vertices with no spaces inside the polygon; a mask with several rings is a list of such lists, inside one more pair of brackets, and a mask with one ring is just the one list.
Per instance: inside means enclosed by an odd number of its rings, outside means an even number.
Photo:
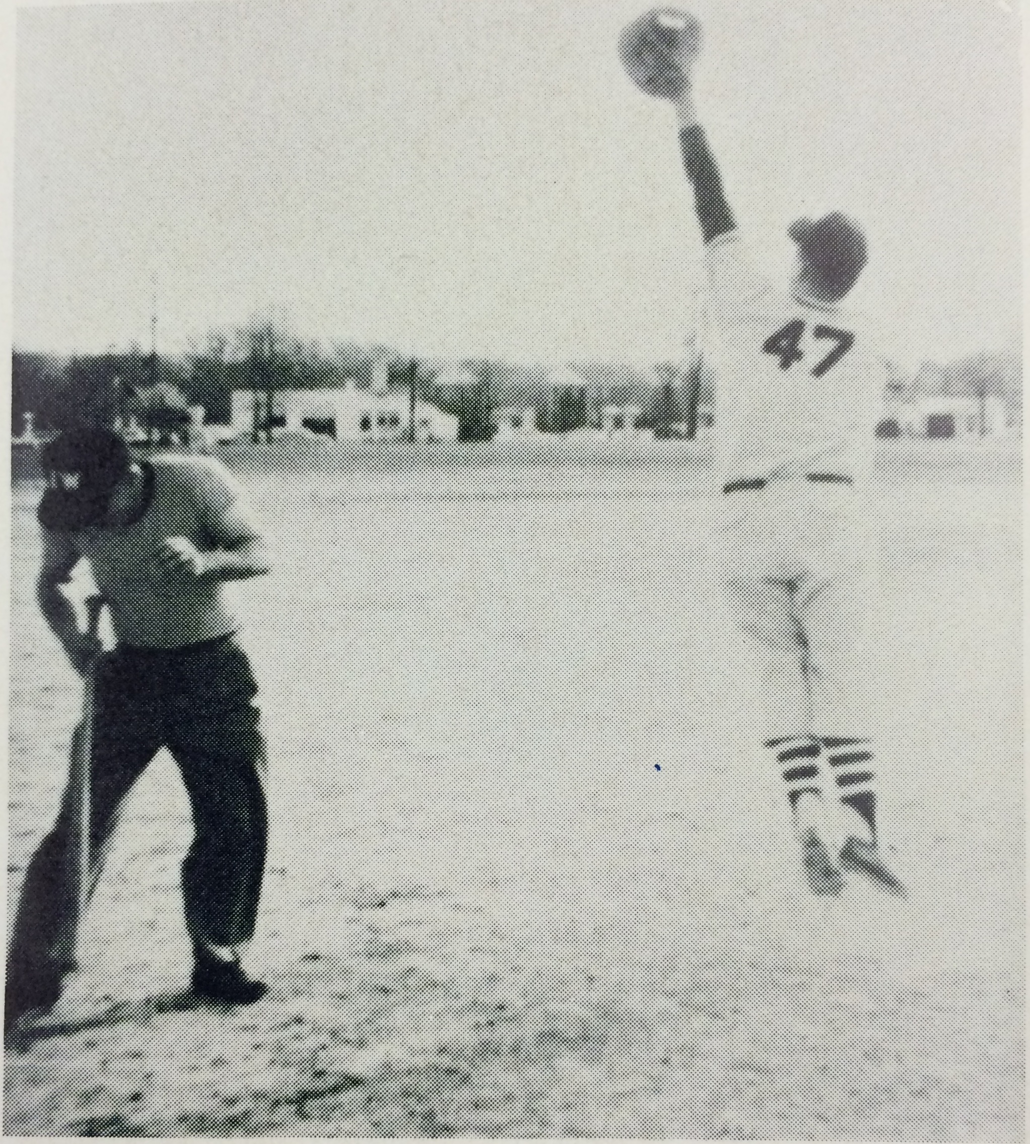
[{"label": "dark baggy trousers of the man holding the bat", "polygon": [[[247,942],[257,915],[268,845],[268,762],[257,685],[232,636],[175,650],[120,648],[101,658],[91,757],[93,892],[121,805],[161,747],[178,764],[193,812],[183,863],[186,928],[194,944]],[[77,730],[77,733],[80,731]],[[67,793],[25,874],[8,978],[56,969],[71,909],[66,885]]]}]

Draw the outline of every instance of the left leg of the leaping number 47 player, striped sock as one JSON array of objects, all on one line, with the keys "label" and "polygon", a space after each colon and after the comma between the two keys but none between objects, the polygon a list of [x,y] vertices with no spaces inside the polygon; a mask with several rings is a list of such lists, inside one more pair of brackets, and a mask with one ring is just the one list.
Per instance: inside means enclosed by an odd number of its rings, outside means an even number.
[{"label": "left leg of the leaping number 47 player, striped sock", "polygon": [[797,588],[787,577],[726,571],[722,589],[737,626],[759,660],[762,750],[783,780],[811,889],[843,887],[824,840],[823,774],[814,733],[808,646],[795,614]]}]

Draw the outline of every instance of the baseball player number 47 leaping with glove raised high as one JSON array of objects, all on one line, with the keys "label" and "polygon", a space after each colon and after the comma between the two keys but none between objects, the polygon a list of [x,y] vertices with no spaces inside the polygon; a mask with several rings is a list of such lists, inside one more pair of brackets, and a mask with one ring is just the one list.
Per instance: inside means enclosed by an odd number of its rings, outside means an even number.
[{"label": "baseball player number 47 leaping with glove raised high", "polygon": [[799,219],[790,280],[752,268],[692,95],[700,46],[693,16],[655,9],[620,47],[634,82],[676,109],[704,240],[719,579],[758,648],[764,748],[787,787],[809,887],[840,893],[851,871],[903,895],[879,847],[870,738],[868,494],[883,371],[845,305],[865,237],[839,212]]}]

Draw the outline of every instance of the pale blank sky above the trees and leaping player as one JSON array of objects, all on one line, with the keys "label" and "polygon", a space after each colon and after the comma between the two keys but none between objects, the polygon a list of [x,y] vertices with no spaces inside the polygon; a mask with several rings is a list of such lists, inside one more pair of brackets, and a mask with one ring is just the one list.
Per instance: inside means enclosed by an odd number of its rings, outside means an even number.
[{"label": "pale blank sky above the trees and leaping player", "polygon": [[[32,3],[17,14],[17,348],[300,332],[521,360],[676,356],[703,285],[641,0]],[[1022,344],[1006,0],[692,0],[701,118],[756,257],[835,206],[903,364]]]}]

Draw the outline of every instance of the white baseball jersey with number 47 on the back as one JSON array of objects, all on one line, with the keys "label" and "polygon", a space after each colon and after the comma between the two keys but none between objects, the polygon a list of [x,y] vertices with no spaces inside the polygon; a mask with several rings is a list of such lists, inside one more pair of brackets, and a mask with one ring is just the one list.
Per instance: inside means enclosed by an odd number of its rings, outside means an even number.
[{"label": "white baseball jersey with number 47 on the back", "polygon": [[736,230],[705,247],[716,365],[716,475],[837,474],[868,483],[883,366],[861,318],[776,289]]}]

